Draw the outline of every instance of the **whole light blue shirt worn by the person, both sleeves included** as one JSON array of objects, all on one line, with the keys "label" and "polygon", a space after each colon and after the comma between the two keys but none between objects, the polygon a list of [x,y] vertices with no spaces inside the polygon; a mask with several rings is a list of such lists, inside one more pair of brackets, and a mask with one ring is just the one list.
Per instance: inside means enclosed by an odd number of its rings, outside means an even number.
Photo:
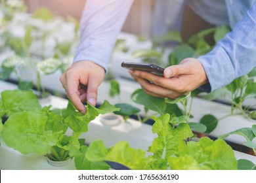
[{"label": "whole light blue shirt worn by the person, both sleeves included", "polygon": [[[180,0],[181,11],[176,10],[176,14],[170,11],[170,8],[175,7],[166,8],[167,4],[174,5],[175,1],[156,1],[156,12],[162,10],[163,14],[165,7],[166,12],[171,12],[170,16],[177,16],[181,14],[184,3],[188,3],[207,22],[234,27],[211,52],[198,58],[209,80],[209,84],[203,86],[204,90],[211,92],[221,88],[234,78],[249,73],[256,66],[256,4],[253,1]],[[132,4],[133,0],[87,0],[80,22],[80,43],[74,61],[94,61],[107,72],[117,35]],[[156,13],[155,22],[162,20],[157,17],[159,15],[161,14]],[[164,24],[162,26],[167,27]],[[166,29],[161,29],[161,33],[170,31],[170,27],[178,28],[181,24],[173,21]]]}]

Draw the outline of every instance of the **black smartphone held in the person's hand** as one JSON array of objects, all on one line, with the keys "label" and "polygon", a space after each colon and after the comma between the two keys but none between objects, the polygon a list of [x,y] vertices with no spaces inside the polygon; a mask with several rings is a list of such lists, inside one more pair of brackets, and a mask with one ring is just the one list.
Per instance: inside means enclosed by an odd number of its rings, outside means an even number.
[{"label": "black smartphone held in the person's hand", "polygon": [[158,65],[154,65],[151,63],[135,63],[135,62],[123,62],[121,63],[121,67],[130,69],[132,71],[139,70],[139,71],[147,71],[153,73],[154,75],[163,76],[164,69],[159,67]]}]

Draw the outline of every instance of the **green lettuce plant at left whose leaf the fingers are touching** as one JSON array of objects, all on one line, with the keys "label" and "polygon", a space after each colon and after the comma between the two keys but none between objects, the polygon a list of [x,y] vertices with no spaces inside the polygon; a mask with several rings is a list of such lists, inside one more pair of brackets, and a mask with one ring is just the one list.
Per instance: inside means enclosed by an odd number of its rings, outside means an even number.
[{"label": "green lettuce plant at left whose leaf the fingers are touching", "polygon": [[[22,90],[6,90],[1,98],[1,115],[8,116],[1,137],[7,146],[22,154],[41,154],[55,161],[75,158],[73,152],[84,144],[79,136],[88,131],[89,122],[99,114],[119,110],[108,101],[98,108],[88,103],[85,115],[70,102],[61,110],[41,108],[35,94]],[[66,135],[68,128],[73,131],[71,136]]]}]

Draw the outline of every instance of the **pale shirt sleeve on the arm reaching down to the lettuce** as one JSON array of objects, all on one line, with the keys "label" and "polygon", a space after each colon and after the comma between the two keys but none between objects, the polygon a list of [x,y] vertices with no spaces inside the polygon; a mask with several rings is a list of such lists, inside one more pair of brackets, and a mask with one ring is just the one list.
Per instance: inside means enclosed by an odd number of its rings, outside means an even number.
[{"label": "pale shirt sleeve on the arm reaching down to the lettuce", "polygon": [[74,62],[93,61],[108,72],[112,49],[132,4],[133,0],[87,0]]}]

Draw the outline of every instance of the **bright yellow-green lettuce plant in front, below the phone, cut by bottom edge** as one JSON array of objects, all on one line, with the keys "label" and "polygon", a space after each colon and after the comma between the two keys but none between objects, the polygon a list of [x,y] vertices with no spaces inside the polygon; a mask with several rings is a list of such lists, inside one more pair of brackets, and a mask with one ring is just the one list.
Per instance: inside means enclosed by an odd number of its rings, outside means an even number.
[{"label": "bright yellow-green lettuce plant in front, below the phone, cut by bottom edge", "polygon": [[[93,142],[83,157],[94,162],[114,161],[129,169],[237,169],[234,152],[222,139],[203,137],[199,142],[186,142],[193,133],[188,124],[175,127],[171,116],[154,117],[152,132],[157,133],[148,150],[134,149],[125,141],[106,148],[102,141]],[[146,156],[146,153],[149,155]],[[82,161],[81,161],[82,162]]]}]

